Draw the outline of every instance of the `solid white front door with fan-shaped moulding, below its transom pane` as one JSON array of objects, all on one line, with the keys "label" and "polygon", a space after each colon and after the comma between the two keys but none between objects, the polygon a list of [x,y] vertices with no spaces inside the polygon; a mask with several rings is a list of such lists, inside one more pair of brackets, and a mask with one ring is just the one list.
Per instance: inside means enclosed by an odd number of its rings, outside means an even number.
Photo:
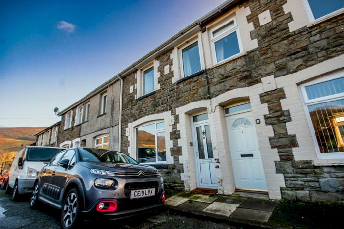
[{"label": "solid white front door with fan-shaped moulding, below its transom pane", "polygon": [[267,190],[252,112],[229,115],[226,123],[236,188]]}]

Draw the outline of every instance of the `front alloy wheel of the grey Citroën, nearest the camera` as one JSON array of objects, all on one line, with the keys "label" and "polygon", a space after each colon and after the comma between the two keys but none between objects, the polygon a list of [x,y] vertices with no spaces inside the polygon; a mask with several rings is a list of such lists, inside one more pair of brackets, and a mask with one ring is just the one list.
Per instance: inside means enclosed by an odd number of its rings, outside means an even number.
[{"label": "front alloy wheel of the grey Citro\u00ebn, nearest the camera", "polygon": [[72,188],[63,200],[61,223],[64,229],[75,227],[81,221],[79,216],[79,194],[76,188]]}]

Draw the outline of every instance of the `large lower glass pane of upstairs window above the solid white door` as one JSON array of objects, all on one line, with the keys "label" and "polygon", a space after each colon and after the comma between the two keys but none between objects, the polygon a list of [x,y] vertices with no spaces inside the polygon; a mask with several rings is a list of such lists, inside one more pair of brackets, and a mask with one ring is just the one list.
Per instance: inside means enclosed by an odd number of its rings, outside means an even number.
[{"label": "large lower glass pane of upstairs window above the solid white door", "polygon": [[238,37],[236,32],[229,34],[221,40],[215,42],[217,62],[225,60],[240,52]]}]

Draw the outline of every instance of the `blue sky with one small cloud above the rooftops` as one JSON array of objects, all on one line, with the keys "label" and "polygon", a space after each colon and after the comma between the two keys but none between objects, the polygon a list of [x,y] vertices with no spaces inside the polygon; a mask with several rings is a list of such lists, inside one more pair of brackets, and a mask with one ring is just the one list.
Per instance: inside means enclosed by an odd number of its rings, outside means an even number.
[{"label": "blue sky with one small cloud above the rooftops", "polygon": [[60,110],[224,0],[0,1],[0,127]]}]

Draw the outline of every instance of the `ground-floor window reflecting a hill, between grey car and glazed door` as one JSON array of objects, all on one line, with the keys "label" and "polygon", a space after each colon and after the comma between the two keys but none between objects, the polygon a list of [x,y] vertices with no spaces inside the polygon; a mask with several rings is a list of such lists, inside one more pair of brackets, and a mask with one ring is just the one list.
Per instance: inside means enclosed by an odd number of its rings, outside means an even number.
[{"label": "ground-floor window reflecting a hill, between grey car and glazed door", "polygon": [[136,128],[137,161],[140,163],[165,163],[165,122],[156,121]]}]

